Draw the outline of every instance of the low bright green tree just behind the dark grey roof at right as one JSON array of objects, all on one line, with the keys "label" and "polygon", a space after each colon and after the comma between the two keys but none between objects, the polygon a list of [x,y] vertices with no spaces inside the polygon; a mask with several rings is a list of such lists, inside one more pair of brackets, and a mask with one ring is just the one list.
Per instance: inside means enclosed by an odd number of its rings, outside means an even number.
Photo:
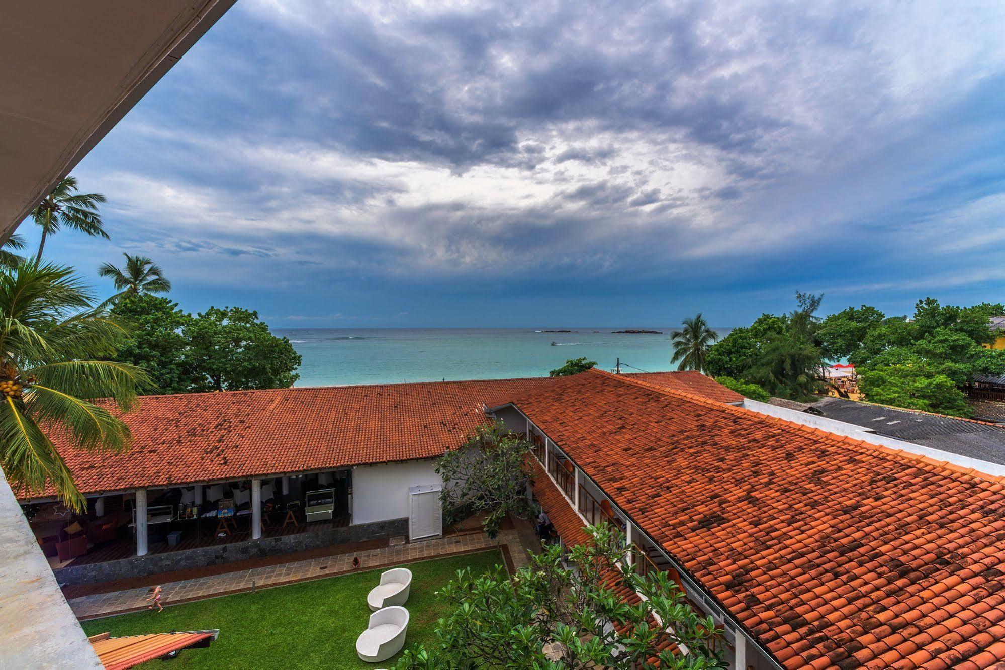
[{"label": "low bright green tree just behind the dark grey roof at right", "polygon": [[969,417],[963,392],[945,375],[926,373],[910,365],[882,366],[858,378],[865,398],[880,405],[906,407],[958,417]]}]

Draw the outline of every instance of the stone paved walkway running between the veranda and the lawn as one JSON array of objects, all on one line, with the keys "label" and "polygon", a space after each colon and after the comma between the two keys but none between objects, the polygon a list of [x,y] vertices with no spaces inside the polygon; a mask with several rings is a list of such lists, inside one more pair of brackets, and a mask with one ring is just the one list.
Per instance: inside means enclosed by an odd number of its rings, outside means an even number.
[{"label": "stone paved walkway running between the veranda and the lawn", "polygon": [[[369,549],[359,553],[344,553],[308,561],[280,564],[242,570],[222,575],[211,575],[181,582],[163,584],[164,605],[180,605],[204,598],[225,596],[252,589],[276,587],[306,580],[335,577],[347,573],[375,570],[389,566],[415,563],[428,559],[467,553],[477,550],[504,548],[513,561],[514,567],[527,565],[527,549],[521,540],[526,533],[517,530],[502,530],[497,541],[489,539],[481,532],[448,535],[414,543],[393,543],[391,546]],[[359,556],[361,566],[353,569],[353,557]],[[126,612],[136,612],[147,607],[149,590],[127,589],[104,594],[82,596],[69,601],[69,606],[77,619],[96,619]]]}]

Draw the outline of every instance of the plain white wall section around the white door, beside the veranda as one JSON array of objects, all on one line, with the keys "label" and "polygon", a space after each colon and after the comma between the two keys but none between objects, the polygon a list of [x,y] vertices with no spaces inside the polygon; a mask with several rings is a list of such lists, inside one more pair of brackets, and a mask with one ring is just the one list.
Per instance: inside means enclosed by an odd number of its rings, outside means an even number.
[{"label": "plain white wall section around the white door, beside the veranda", "polygon": [[353,470],[353,523],[408,516],[408,487],[442,481],[433,461],[361,465]]}]

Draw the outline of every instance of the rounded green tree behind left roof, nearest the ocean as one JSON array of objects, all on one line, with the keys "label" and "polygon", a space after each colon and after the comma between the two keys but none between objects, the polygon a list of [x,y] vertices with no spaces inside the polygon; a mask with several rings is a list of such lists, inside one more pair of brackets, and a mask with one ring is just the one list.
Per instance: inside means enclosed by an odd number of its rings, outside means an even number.
[{"label": "rounded green tree behind left roof, nearest the ocean", "polygon": [[284,389],[299,379],[300,355],[288,339],[269,332],[257,311],[210,307],[182,333],[196,375],[193,391]]}]

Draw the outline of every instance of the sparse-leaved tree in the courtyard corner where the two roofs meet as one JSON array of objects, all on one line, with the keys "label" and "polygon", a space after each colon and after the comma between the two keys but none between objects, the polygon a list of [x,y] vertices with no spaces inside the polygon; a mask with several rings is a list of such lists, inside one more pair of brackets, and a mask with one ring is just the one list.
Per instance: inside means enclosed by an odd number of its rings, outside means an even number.
[{"label": "sparse-leaved tree in the courtyard corner where the two roofs meet", "polygon": [[530,442],[492,423],[478,426],[460,449],[444,453],[436,473],[444,482],[440,507],[446,510],[447,522],[455,523],[466,513],[483,513],[481,527],[494,538],[507,514],[531,516],[530,450]]}]

